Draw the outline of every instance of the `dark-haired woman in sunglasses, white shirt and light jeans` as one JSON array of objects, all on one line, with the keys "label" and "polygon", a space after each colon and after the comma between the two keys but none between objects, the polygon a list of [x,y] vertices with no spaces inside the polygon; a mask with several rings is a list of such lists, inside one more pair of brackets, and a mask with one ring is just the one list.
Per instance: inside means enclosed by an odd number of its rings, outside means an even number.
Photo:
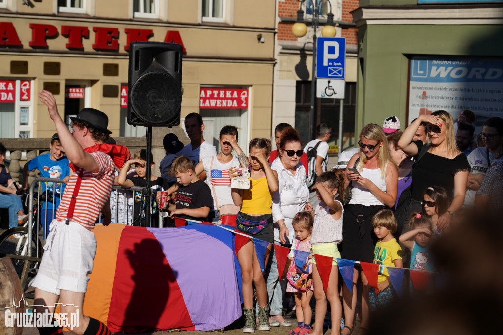
[{"label": "dark-haired woman in sunglasses, white shirt and light jeans", "polygon": [[[273,194],[274,243],[290,247],[295,237],[292,220],[296,213],[312,210],[307,202],[309,189],[306,184],[306,170],[300,157],[303,154],[302,140],[292,127],[285,128],[278,144],[279,156],[271,163],[271,169],[278,173],[278,191]],[[307,205],[306,205],[307,204]],[[279,274],[281,275],[281,274]],[[290,326],[291,322],[283,318],[283,294],[278,282],[278,265],[271,257],[271,268],[267,279],[267,290],[272,297],[270,305],[271,326]],[[274,292],[273,292],[274,291]]]}]

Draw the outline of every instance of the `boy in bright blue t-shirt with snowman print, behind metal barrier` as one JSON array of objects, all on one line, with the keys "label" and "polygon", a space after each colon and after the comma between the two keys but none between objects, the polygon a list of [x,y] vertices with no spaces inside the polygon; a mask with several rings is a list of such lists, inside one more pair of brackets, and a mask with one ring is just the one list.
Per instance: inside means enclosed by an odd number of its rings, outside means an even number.
[{"label": "boy in bright blue t-shirt with snowman print, behind metal barrier", "polygon": [[[30,171],[40,171],[42,178],[64,179],[70,175],[69,160],[64,155],[64,149],[59,141],[58,133],[51,137],[49,153],[38,155],[28,161],[23,167],[23,189],[28,188]],[[44,230],[44,238],[49,234],[48,225],[56,217],[56,210],[61,201],[65,184],[42,183],[42,191],[47,199],[42,203],[40,211],[40,224]],[[47,192],[46,192],[47,189]]]}]

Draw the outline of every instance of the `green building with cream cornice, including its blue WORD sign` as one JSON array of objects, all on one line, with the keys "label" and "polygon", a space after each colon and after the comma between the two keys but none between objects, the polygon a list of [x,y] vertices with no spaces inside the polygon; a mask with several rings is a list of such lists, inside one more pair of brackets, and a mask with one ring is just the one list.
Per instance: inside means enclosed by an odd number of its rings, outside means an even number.
[{"label": "green building with cream cornice, including its blue WORD sign", "polygon": [[503,115],[503,5],[436,0],[361,0],[356,128],[396,115],[463,109],[483,122]]}]

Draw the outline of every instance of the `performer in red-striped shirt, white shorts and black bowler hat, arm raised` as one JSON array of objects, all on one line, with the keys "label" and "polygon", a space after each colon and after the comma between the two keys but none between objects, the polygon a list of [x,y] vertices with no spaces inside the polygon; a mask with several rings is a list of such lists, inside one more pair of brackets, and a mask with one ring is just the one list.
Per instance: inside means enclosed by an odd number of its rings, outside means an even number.
[{"label": "performer in red-striped shirt, white shorts and black bowler hat, arm raised", "polygon": [[[42,91],[39,97],[47,106],[75,172],[70,176],[56,218],[51,222],[45,253],[33,283],[35,305],[44,306],[37,307],[34,312],[54,313],[53,306],[59,300],[62,313],[78,316],[78,326],[71,329],[74,333],[109,335],[111,332],[105,324],[83,315],[82,305],[96,255],[95,221],[110,198],[116,164],[122,165],[120,161],[127,156],[121,152],[124,147],[103,144],[111,133],[105,113],[94,108],[82,109],[76,118],[71,118],[73,131],[70,133],[52,94]],[[112,148],[111,154],[117,160],[101,151],[101,146]],[[63,250],[71,250],[71,253]],[[39,328],[39,332],[55,335],[62,334],[62,329],[57,324],[46,325]]]}]

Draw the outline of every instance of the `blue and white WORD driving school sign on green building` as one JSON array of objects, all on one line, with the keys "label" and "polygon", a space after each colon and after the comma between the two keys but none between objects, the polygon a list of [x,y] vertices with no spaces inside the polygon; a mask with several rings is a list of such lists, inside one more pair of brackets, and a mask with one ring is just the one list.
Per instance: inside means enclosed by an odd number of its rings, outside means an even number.
[{"label": "blue and white WORD driving school sign on green building", "polygon": [[482,119],[503,116],[503,58],[412,56],[409,123],[436,110],[456,119],[464,109]]}]

